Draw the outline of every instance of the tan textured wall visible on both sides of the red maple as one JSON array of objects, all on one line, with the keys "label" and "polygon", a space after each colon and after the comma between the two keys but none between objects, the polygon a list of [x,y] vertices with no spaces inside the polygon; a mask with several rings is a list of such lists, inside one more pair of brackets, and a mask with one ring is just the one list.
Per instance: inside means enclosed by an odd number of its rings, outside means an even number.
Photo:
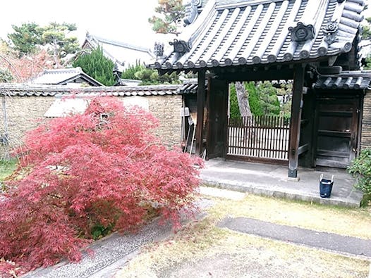
[{"label": "tan textured wall visible on both sides of the red maple", "polygon": [[[145,97],[148,99],[150,113],[159,120],[159,127],[154,133],[166,146],[180,146],[182,96]],[[44,113],[54,100],[54,96],[12,96],[5,98],[4,106],[4,99],[1,99],[0,138],[6,133],[6,115],[9,140],[8,145],[1,144],[0,141],[0,159],[22,145],[25,133],[37,127],[39,120],[45,120]]]}]

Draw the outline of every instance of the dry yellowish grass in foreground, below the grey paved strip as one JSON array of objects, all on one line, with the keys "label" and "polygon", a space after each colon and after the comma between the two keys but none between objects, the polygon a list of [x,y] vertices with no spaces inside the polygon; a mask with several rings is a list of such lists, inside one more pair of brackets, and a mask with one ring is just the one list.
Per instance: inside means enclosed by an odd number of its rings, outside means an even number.
[{"label": "dry yellowish grass in foreground, below the grey paved strip", "polygon": [[207,217],[147,246],[124,277],[367,277],[369,262],[215,227]]}]

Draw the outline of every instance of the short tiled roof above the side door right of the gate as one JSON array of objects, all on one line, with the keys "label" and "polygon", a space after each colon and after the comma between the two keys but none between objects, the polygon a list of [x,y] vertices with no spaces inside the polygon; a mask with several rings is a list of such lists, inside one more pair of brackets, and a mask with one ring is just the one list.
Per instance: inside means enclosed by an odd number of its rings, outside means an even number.
[{"label": "short tiled roof above the side door right of the gate", "polygon": [[314,87],[319,89],[371,89],[371,71],[341,72],[339,75],[319,75]]}]

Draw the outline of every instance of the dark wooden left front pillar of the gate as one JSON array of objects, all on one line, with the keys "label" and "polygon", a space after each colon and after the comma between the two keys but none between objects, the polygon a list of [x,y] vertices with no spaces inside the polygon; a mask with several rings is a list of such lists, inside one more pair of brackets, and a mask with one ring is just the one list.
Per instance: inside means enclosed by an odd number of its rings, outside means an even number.
[{"label": "dark wooden left front pillar of the gate", "polygon": [[205,109],[205,70],[197,72],[197,125],[196,125],[196,154],[202,154],[204,109]]}]

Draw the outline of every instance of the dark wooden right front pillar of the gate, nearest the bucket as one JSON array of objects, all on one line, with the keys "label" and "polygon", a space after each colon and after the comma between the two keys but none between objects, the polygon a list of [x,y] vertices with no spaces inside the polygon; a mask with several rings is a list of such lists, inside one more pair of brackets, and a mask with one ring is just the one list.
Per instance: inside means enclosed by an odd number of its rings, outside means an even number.
[{"label": "dark wooden right front pillar of the gate, nearest the bucket", "polygon": [[304,87],[304,65],[297,65],[293,75],[291,103],[290,146],[288,148],[288,177],[298,177],[301,103]]}]

